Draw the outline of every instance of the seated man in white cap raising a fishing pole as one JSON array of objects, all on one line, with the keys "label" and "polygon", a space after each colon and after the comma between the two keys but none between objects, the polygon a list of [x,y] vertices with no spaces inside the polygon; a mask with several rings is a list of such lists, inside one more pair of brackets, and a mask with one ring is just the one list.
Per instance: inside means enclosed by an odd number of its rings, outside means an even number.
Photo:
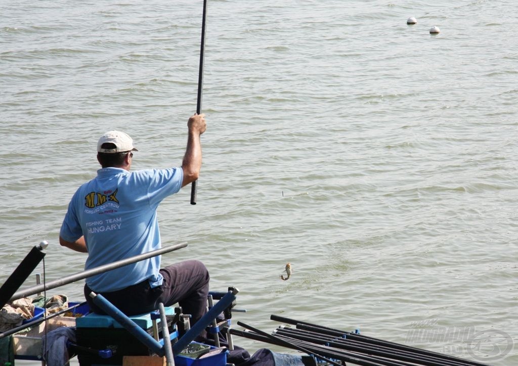
[{"label": "seated man in white cap raising a fishing pole", "polygon": [[[156,209],[169,195],[198,178],[202,166],[200,135],[205,114],[189,118],[189,137],[181,168],[130,172],[133,146],[130,136],[105,133],[97,143],[102,169],[79,187],[71,199],[60,231],[60,244],[88,253],[85,269],[150,252],[161,247]],[[202,262],[188,260],[160,269],[160,256],[88,277],[84,294],[91,309],[103,314],[91,291],[102,294],[126,315],[182,306],[194,324],[205,314],[209,273]]]}]

